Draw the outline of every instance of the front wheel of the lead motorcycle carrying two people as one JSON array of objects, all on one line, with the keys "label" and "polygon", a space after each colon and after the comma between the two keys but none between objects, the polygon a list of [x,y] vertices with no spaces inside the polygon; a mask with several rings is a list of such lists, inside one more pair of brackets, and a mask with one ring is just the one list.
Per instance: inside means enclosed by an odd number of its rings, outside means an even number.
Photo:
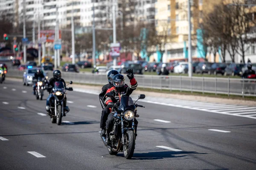
[{"label": "front wheel of the lead motorcycle carrying two people", "polygon": [[134,131],[128,130],[125,133],[125,144],[123,145],[124,156],[126,159],[131,159],[135,149]]}]

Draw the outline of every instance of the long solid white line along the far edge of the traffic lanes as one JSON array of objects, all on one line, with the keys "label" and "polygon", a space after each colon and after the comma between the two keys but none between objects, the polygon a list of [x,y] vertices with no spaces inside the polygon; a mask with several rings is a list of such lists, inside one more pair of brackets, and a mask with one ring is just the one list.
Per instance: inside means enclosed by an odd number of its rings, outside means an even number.
[{"label": "long solid white line along the far edge of the traffic lanes", "polygon": [[[91,91],[86,91],[86,90],[81,90],[81,89],[73,89],[73,91],[76,92],[80,92],[80,93],[86,93],[86,94],[95,94],[95,95],[99,95],[100,91],[98,92],[91,92]],[[167,104],[167,103],[157,103],[157,102],[153,102],[153,101],[147,101],[147,100],[140,100],[140,102],[144,102],[144,103],[151,103],[151,104],[157,104],[157,105],[164,105],[164,106],[172,106],[175,108],[184,108],[184,109],[191,109],[191,110],[195,110],[195,111],[204,111],[204,112],[210,112],[210,113],[218,113],[218,114],[224,114],[224,115],[230,115],[230,116],[239,116],[239,117],[245,117],[245,118],[250,118],[250,119],[256,119],[256,117],[248,117],[245,115],[235,115],[234,113],[226,113],[226,112],[219,112],[219,111],[210,111],[207,109],[201,109],[201,108],[195,108],[196,105],[194,107],[189,107],[189,106],[182,106],[182,105],[172,105],[172,104]],[[207,104],[211,104],[211,105],[201,105],[201,106],[215,106],[215,105],[226,105],[226,104],[216,104],[216,103],[207,103]]]}]

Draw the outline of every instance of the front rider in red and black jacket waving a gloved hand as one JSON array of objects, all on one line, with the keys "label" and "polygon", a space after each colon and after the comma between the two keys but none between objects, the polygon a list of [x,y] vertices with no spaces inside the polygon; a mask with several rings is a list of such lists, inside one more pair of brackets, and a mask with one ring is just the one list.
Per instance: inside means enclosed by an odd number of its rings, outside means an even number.
[{"label": "front rider in red and black jacket waving a gloved hand", "polygon": [[[125,77],[122,74],[116,74],[113,77],[113,87],[108,89],[107,93],[113,93],[113,97],[105,97],[105,104],[108,105],[108,107],[114,106],[114,103],[119,102],[119,94],[130,96],[134,90],[137,88],[137,81],[134,78],[133,70],[128,69],[126,70],[127,77],[130,79],[130,85],[125,84]],[[113,113],[110,113],[108,115],[108,119],[106,122],[106,130],[107,135],[105,139],[105,145],[109,145],[110,139],[109,139],[109,133],[111,132],[114,125],[114,118]],[[138,122],[136,119],[134,119],[134,125],[135,125],[135,133],[137,130]]]}]

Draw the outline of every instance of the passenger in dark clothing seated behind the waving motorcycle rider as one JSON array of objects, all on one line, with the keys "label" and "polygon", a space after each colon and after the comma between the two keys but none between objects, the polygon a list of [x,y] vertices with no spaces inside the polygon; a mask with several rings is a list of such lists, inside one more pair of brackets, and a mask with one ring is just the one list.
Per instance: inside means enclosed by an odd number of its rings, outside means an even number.
[{"label": "passenger in dark clothing seated behind the waving motorcycle rider", "polygon": [[108,84],[106,84],[102,87],[102,92],[99,94],[99,102],[102,106],[102,116],[100,119],[100,128],[101,128],[100,134],[102,136],[104,136],[106,133],[106,130],[105,130],[106,121],[108,119],[108,114],[110,113],[110,109],[106,108],[107,105],[105,105],[103,98],[104,98],[107,90],[113,87],[113,77],[116,74],[119,74],[119,72],[116,70],[111,70],[108,72]]}]

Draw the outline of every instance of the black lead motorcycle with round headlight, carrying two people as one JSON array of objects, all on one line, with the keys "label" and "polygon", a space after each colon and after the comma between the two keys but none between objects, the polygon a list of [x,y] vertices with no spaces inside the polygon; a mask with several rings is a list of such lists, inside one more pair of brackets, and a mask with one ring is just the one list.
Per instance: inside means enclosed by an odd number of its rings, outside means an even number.
[{"label": "black lead motorcycle with round headlight, carrying two people", "polygon": [[[107,96],[113,97],[113,94],[108,93]],[[138,99],[144,98],[144,94],[140,94],[138,97]],[[142,105],[137,105],[136,102],[133,102],[131,97],[120,96],[120,102],[117,102],[112,109],[114,126],[109,134],[111,142],[107,146],[108,153],[111,155],[116,155],[118,152],[123,151],[125,158],[131,159],[134,154],[136,139],[134,118],[139,117],[137,107],[145,108]],[[101,137],[104,143],[105,136]]]}]

